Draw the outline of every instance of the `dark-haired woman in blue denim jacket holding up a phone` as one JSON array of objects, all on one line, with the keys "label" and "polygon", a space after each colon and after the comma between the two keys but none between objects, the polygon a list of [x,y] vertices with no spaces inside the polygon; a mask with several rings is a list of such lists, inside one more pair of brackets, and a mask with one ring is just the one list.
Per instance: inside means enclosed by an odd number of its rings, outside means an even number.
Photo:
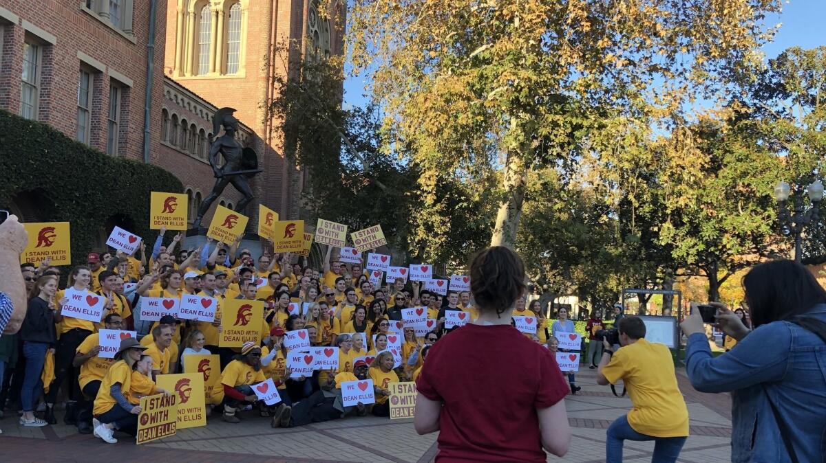
[{"label": "dark-haired woman in blue denim jacket holding up a phone", "polygon": [[[700,392],[732,394],[735,463],[826,461],[826,344],[790,323],[797,316],[826,322],[826,292],[802,264],[777,260],[743,278],[753,331],[733,311],[718,306],[717,326],[734,339],[731,351],[712,358],[700,311],[682,322],[688,336],[686,372]],[[771,404],[782,421],[777,423]]]}]

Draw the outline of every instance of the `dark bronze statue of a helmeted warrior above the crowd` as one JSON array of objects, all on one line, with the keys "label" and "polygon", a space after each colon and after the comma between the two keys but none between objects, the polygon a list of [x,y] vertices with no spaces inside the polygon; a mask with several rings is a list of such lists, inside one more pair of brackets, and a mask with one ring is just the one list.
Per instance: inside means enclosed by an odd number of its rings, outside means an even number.
[{"label": "dark bronze statue of a helmeted warrior above the crowd", "polygon": [[[232,184],[235,189],[244,194],[235,204],[235,212],[241,212],[254,199],[253,190],[249,188],[249,180],[259,173],[258,156],[255,150],[250,147],[241,147],[235,140],[235,132],[238,131],[238,119],[232,115],[235,110],[232,108],[221,108],[217,110],[212,118],[212,133],[218,134],[221,127],[224,128],[224,135],[212,141],[209,150],[209,163],[215,173],[215,186],[212,192],[198,206],[198,214],[192,227],[196,230],[201,227],[201,221],[209,210],[212,203],[218,199],[218,195],[224,191],[227,184]],[[218,153],[224,157],[224,166],[218,167]]]}]

